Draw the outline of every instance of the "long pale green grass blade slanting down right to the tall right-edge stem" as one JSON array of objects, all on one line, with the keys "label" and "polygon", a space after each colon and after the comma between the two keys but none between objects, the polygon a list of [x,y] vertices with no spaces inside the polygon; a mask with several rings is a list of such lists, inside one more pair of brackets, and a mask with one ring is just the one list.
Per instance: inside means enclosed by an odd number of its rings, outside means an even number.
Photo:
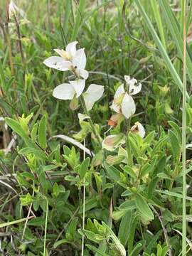
[{"label": "long pale green grass blade slanting down right to the tall right-edge stem", "polygon": [[[164,48],[163,44],[161,43],[159,36],[157,36],[154,26],[152,25],[149,17],[147,16],[146,12],[144,11],[144,8],[143,8],[140,0],[135,0],[135,3],[137,4],[139,11],[142,14],[142,17],[144,18],[144,22],[146,23],[146,26],[148,27],[149,31],[151,32],[151,36],[153,36],[153,38],[154,38],[156,46],[158,46],[159,51],[160,51],[162,57],[164,58],[167,68],[169,68],[172,78],[176,82],[176,85],[181,90],[181,92],[183,92],[183,83],[181,81],[181,78],[179,78],[178,73],[176,72],[176,69],[174,68],[173,63],[171,63],[169,55],[166,53],[166,49]],[[186,97],[189,98],[188,94],[186,94]]]}]

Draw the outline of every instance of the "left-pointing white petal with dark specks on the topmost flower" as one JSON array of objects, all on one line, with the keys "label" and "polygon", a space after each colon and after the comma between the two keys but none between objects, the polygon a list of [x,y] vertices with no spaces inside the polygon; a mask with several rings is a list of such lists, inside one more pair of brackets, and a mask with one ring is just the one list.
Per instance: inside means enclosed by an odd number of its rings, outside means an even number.
[{"label": "left-pointing white petal with dark specks on the topmost flower", "polygon": [[55,68],[60,71],[70,70],[72,63],[70,61],[65,61],[63,58],[58,56],[51,56],[43,61],[48,68]]}]

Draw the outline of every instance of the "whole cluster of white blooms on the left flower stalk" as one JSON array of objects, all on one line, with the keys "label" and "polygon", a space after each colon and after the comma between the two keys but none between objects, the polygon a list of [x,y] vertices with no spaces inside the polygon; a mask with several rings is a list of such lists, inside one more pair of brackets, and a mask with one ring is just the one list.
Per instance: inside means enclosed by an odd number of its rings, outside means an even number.
[{"label": "whole cluster of white blooms on the left flower stalk", "polygon": [[72,72],[75,80],[58,85],[53,90],[53,96],[59,100],[73,100],[83,95],[87,110],[91,110],[97,100],[100,100],[104,92],[102,85],[91,84],[85,93],[85,80],[89,73],[85,70],[86,55],[84,48],[76,49],[77,41],[69,43],[65,50],[54,49],[60,56],[51,56],[44,60],[48,68],[55,68],[60,71]]}]

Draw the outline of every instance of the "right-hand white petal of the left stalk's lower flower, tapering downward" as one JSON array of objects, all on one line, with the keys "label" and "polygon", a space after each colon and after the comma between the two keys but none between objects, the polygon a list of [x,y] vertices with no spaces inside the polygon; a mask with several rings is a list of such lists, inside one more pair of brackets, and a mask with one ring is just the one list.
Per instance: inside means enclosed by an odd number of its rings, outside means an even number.
[{"label": "right-hand white petal of the left stalk's lower flower, tapering downward", "polygon": [[88,87],[87,91],[83,93],[85,105],[88,111],[92,109],[94,103],[97,100],[100,100],[103,92],[104,92],[104,87],[102,85],[91,84]]}]

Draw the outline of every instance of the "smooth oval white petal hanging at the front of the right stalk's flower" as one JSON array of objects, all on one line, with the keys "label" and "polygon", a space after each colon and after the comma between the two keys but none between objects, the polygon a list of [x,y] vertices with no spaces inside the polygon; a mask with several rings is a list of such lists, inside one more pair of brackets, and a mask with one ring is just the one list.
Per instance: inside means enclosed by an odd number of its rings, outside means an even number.
[{"label": "smooth oval white petal hanging at the front of the right stalk's flower", "polygon": [[134,100],[132,96],[128,95],[127,93],[125,93],[124,98],[122,100],[121,109],[122,109],[122,114],[127,119],[131,117],[135,112]]}]

